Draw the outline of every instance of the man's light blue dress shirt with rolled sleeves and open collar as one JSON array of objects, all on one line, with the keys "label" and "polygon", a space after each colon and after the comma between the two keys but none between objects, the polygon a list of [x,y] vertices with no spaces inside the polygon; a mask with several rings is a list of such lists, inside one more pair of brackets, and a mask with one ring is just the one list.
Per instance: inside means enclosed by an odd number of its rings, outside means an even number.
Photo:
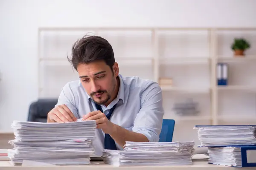
[{"label": "man's light blue dress shirt with rolled sleeves and open collar", "polygon": [[[163,99],[160,86],[151,80],[139,77],[122,77],[119,74],[119,92],[108,107],[101,105],[105,115],[116,105],[110,121],[127,130],[144,134],[149,142],[158,142],[163,122]],[[61,90],[57,105],[67,105],[77,119],[91,111],[97,111],[92,99],[84,90],[80,80],[68,82]],[[93,141],[95,154],[102,155],[105,134],[96,130]],[[118,150],[122,146],[116,143]]]}]

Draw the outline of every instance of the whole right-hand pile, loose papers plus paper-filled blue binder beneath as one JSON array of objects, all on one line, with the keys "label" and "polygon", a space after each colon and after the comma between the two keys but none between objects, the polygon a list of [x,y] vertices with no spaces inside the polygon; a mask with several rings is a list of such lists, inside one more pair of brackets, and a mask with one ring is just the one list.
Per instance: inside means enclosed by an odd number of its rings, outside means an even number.
[{"label": "whole right-hand pile, loose papers plus paper-filled blue binder beneath", "polygon": [[[256,166],[256,126],[195,126],[198,147],[208,147],[209,163],[248,167]],[[254,158],[254,160],[252,160]]]}]

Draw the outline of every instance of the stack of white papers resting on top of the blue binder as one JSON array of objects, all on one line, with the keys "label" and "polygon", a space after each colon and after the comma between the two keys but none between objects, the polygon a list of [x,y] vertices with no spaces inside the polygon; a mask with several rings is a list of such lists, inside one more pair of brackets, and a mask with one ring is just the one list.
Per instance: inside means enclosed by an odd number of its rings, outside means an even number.
[{"label": "stack of white papers resting on top of the blue binder", "polygon": [[201,147],[254,145],[256,144],[256,126],[195,126]]}]

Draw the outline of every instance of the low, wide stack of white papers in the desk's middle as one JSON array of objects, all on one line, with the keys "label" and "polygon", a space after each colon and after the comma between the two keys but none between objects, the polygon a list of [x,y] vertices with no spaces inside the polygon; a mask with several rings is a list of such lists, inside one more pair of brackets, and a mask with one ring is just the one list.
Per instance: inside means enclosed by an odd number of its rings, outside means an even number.
[{"label": "low, wide stack of white papers in the desk's middle", "polygon": [[104,150],[102,158],[114,166],[191,165],[194,142],[126,142],[124,150]]}]

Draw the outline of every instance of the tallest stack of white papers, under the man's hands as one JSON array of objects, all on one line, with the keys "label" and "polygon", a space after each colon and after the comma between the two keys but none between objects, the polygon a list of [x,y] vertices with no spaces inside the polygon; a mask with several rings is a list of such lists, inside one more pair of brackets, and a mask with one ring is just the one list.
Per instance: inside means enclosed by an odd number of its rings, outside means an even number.
[{"label": "tallest stack of white papers, under the man's hands", "polygon": [[70,123],[20,122],[12,123],[14,146],[8,150],[12,164],[21,165],[23,160],[49,164],[90,164],[94,154],[96,122]]}]

